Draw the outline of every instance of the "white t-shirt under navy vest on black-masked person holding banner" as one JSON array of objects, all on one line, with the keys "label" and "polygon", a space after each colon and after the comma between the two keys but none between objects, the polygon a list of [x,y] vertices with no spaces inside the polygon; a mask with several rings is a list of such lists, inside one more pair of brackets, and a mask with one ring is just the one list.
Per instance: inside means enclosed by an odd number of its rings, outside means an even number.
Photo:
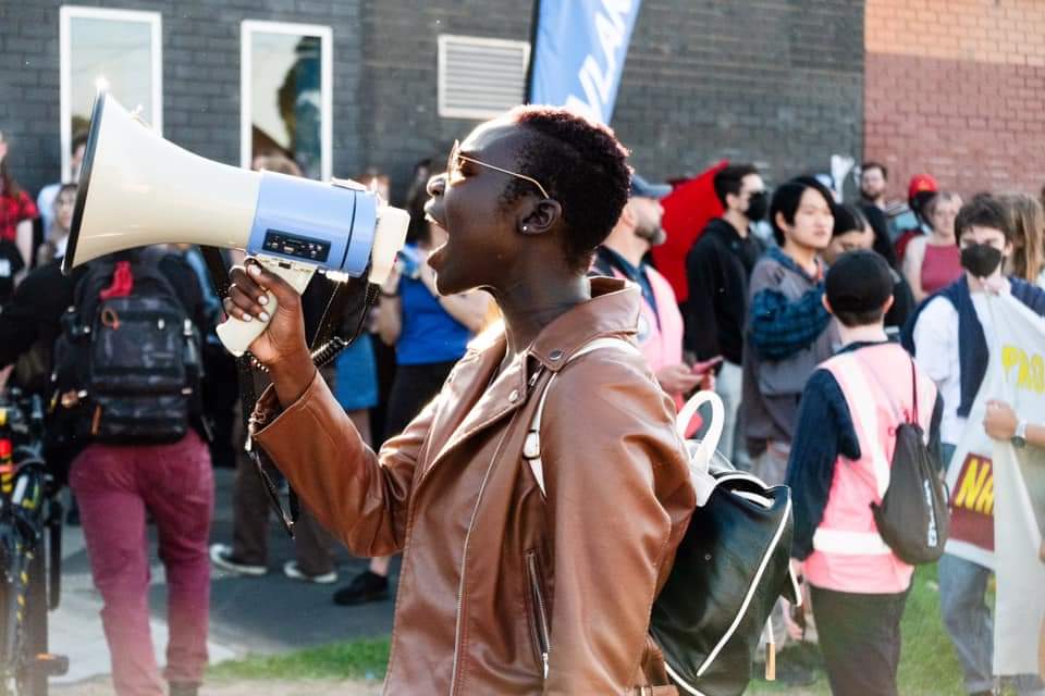
[{"label": "white t-shirt under navy vest on black-masked person holding banner", "polygon": [[[985,310],[984,295],[972,294],[972,306],[983,326],[987,350],[994,345],[994,327]],[[961,403],[961,362],[958,355],[958,310],[945,297],[937,297],[925,306],[914,323],[914,362],[932,377],[944,399],[939,424],[939,439],[957,445],[968,422],[958,415]]]}]

